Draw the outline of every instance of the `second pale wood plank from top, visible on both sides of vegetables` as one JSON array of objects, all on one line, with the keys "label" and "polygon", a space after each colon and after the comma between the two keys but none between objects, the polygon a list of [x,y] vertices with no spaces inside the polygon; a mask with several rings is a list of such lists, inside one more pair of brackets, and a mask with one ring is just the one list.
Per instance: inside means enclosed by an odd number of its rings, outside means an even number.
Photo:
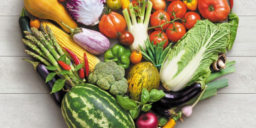
[{"label": "second pale wood plank from top, visible on both sides of vegetables", "polygon": [[[227,56],[256,56],[256,26],[253,23],[256,16],[240,16],[240,24],[236,41],[231,51],[227,52]],[[0,56],[27,56],[23,52],[25,46],[22,42],[22,35],[18,25],[18,16],[0,16]],[[8,26],[8,27],[6,27]],[[99,30],[98,26],[88,27],[81,25],[81,27]],[[110,39],[111,47],[118,43],[117,39]],[[103,55],[99,55],[103,56]]]}]

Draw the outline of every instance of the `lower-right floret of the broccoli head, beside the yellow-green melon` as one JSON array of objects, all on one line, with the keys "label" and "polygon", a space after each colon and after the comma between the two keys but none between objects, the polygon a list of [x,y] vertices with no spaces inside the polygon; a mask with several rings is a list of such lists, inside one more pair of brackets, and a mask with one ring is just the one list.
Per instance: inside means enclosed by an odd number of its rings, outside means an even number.
[{"label": "lower-right floret of the broccoli head, beside the yellow-green melon", "polygon": [[127,92],[127,80],[123,78],[122,80],[115,81],[111,84],[109,92],[113,95],[124,95]]}]

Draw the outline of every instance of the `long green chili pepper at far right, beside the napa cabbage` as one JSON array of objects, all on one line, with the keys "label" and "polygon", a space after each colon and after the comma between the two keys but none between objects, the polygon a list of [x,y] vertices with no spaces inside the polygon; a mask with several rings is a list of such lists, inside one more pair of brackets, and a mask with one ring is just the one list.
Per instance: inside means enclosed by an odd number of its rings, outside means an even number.
[{"label": "long green chili pepper at far right, beside the napa cabbage", "polygon": [[228,15],[228,23],[232,24],[230,28],[230,41],[227,45],[228,51],[229,51],[234,44],[234,40],[236,39],[237,27],[239,23],[239,18],[236,14],[232,12],[232,9],[231,9],[231,13]]}]

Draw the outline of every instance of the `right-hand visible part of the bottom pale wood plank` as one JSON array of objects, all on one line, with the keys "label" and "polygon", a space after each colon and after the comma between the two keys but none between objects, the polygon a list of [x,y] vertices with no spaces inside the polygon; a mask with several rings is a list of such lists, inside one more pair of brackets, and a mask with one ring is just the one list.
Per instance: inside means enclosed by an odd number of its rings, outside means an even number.
[{"label": "right-hand visible part of the bottom pale wood plank", "polygon": [[218,94],[199,101],[175,128],[255,128],[256,94]]}]

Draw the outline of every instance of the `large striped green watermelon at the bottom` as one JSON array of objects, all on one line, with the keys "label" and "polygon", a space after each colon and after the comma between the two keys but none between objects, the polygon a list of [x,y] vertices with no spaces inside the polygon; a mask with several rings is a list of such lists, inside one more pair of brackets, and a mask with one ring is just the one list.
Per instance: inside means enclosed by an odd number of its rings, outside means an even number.
[{"label": "large striped green watermelon at the bottom", "polygon": [[72,87],[62,100],[61,111],[70,128],[135,128],[129,112],[93,84]]}]

